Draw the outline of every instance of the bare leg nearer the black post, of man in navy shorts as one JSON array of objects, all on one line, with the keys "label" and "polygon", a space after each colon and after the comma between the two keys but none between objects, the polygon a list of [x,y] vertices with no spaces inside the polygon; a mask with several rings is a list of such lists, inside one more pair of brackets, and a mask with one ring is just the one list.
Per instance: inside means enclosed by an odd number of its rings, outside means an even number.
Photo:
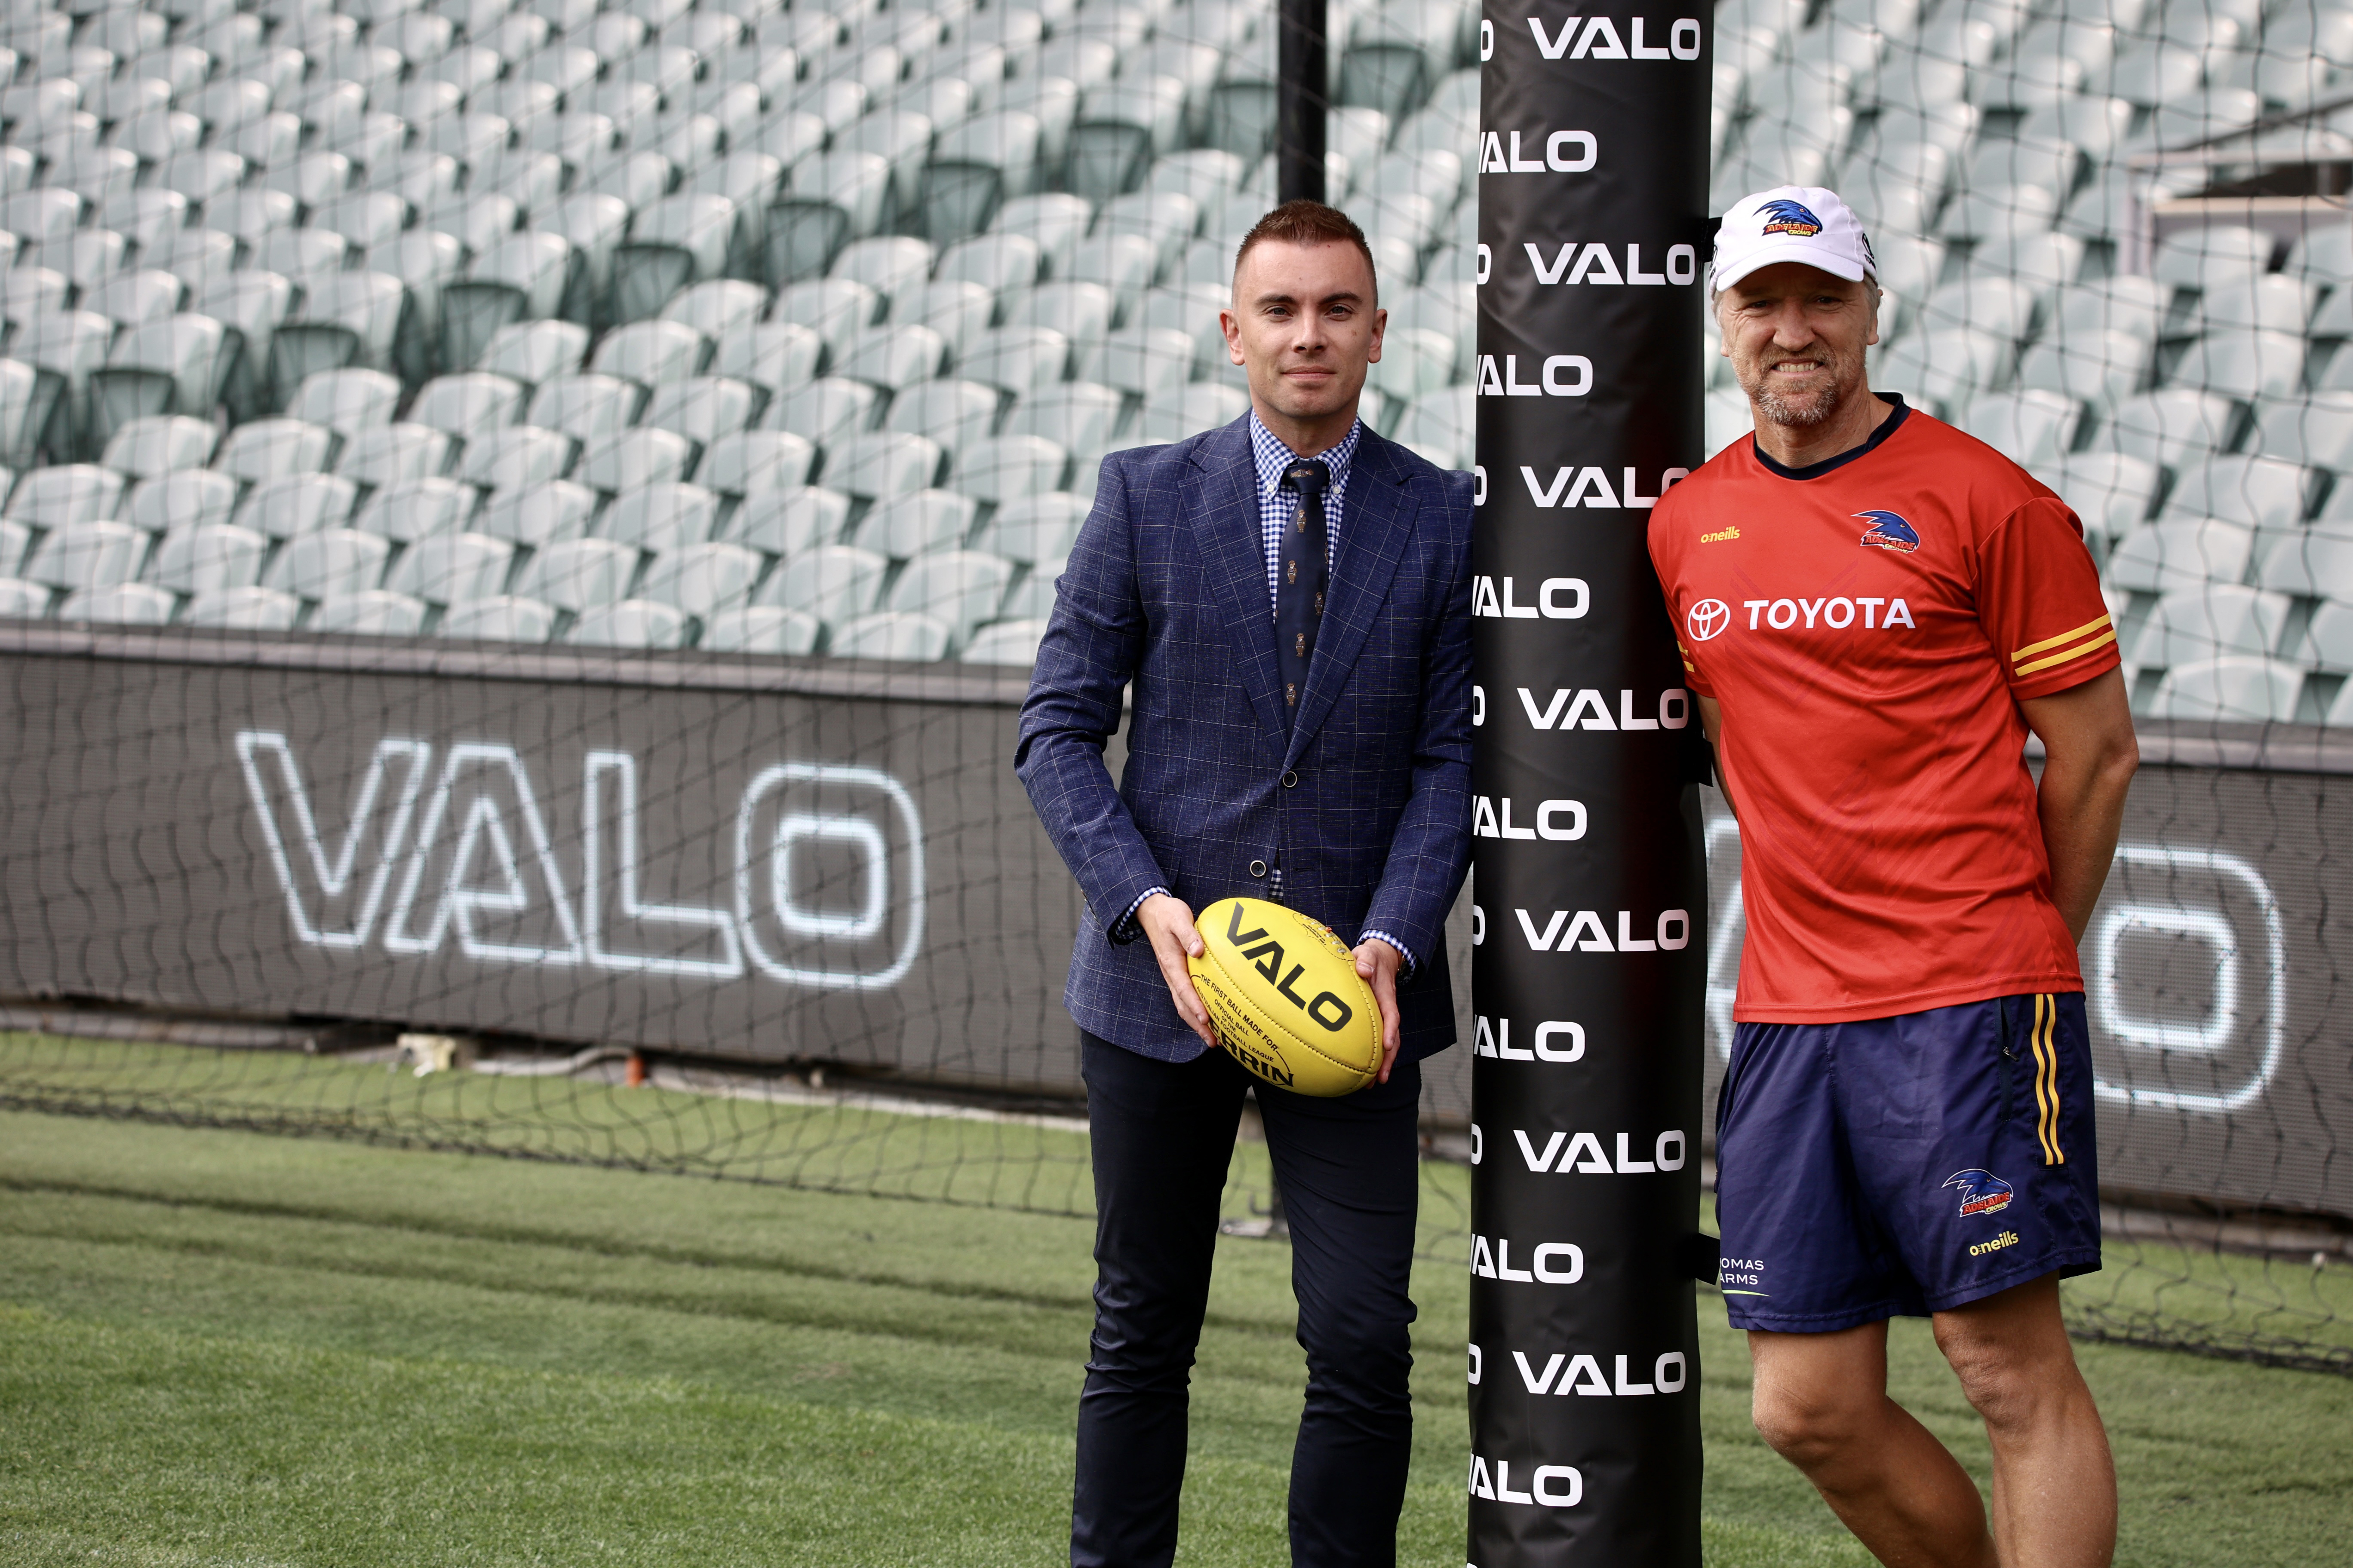
[{"label": "bare leg nearer the black post, of man in navy shorts", "polygon": [[1887,1399],[1887,1324],[1748,1333],[1758,1432],[1887,1568],[1998,1568],[1977,1481]]}]

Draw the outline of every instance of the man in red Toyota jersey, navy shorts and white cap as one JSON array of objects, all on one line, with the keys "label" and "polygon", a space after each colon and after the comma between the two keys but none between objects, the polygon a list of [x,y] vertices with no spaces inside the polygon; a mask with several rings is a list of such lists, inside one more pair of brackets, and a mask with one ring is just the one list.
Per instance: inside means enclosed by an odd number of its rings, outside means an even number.
[{"label": "man in red Toyota jersey, navy shorts and white cap", "polygon": [[[1833,193],[1739,202],[1708,282],[1755,440],[1649,552],[1741,825],[1718,1218],[1755,1425],[1882,1563],[2097,1568],[2115,1467],[2059,1321],[2099,1267],[2075,943],[2139,762],[2099,571],[2059,496],[1864,386],[1880,289]],[[1887,1399],[1899,1314],[1986,1420],[1991,1528]]]}]

